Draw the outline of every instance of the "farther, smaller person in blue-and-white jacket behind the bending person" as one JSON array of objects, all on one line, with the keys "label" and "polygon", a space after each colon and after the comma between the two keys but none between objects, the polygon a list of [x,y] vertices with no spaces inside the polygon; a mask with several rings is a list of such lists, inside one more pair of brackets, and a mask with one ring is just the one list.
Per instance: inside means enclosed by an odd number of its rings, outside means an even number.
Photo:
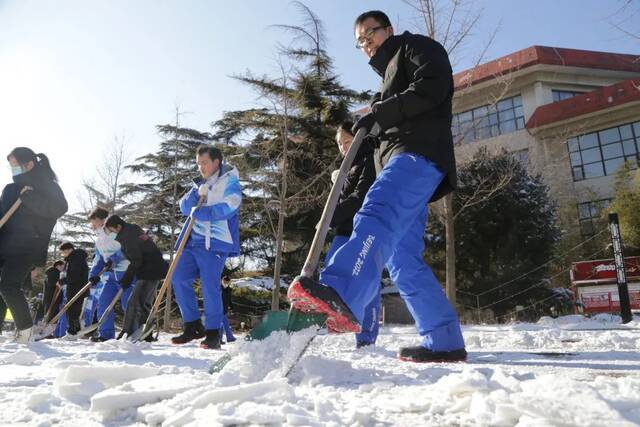
[{"label": "farther, smaller person in blue-and-white jacket behind the bending person", "polygon": [[[89,225],[96,235],[95,255],[89,272],[89,281],[93,285],[92,288],[95,288],[98,318],[102,317],[113,298],[115,298],[120,289],[118,283],[129,267],[129,260],[122,252],[122,245],[116,240],[116,234],[105,231],[104,224],[108,216],[109,212],[106,209],[97,207],[87,217]],[[120,297],[120,306],[124,312],[127,311],[127,303],[133,291],[133,286],[135,284],[124,288]],[[98,329],[98,335],[91,337],[91,341],[102,342],[115,338],[115,320],[115,310],[111,310],[111,313],[107,315],[107,318]]]}]

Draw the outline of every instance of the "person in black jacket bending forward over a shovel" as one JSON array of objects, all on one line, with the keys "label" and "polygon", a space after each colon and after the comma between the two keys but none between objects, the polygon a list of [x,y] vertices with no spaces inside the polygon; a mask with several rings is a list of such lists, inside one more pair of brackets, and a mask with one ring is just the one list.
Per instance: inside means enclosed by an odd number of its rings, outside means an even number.
[{"label": "person in black jacket bending forward over a shovel", "polygon": [[124,316],[122,333],[131,336],[149,316],[155,291],[167,274],[167,263],[162,252],[140,227],[125,222],[118,215],[111,215],[104,224],[108,233],[114,233],[120,242],[129,266],[120,279],[120,286],[127,288],[136,280]]}]

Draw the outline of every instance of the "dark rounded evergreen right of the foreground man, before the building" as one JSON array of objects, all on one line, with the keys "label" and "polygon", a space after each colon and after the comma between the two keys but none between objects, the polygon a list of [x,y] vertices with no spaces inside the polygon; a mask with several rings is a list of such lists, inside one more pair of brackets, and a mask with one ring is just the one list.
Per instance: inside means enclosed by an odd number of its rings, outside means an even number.
[{"label": "dark rounded evergreen right of the foreground man, before the building", "polygon": [[511,171],[509,184],[486,202],[467,206],[456,218],[460,289],[481,294],[510,282],[485,293],[480,301],[467,301],[471,306],[479,302],[498,315],[550,295],[544,279],[547,269],[538,267],[553,257],[560,235],[547,186],[507,153],[492,157],[479,150],[459,169],[456,209],[476,191],[478,182],[502,179],[503,170]]}]

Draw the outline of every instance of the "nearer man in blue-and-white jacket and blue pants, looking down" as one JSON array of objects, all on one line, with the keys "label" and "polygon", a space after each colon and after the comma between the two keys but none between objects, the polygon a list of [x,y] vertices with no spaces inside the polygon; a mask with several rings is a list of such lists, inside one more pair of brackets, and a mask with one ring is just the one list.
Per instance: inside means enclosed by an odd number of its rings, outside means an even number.
[{"label": "nearer man in blue-and-white jacket and blue pants, looking down", "polygon": [[[183,333],[173,344],[204,338],[200,347],[220,348],[220,328],[224,310],[220,295],[220,276],[227,257],[240,253],[238,211],[242,188],[238,170],[222,163],[222,152],[212,145],[198,147],[196,163],[201,179],[180,200],[180,211],[195,221],[173,276],[176,302],[180,307]],[[198,201],[203,200],[201,207]],[[182,233],[176,246],[180,244]],[[200,278],[204,299],[205,324],[200,320],[193,282]]]}]

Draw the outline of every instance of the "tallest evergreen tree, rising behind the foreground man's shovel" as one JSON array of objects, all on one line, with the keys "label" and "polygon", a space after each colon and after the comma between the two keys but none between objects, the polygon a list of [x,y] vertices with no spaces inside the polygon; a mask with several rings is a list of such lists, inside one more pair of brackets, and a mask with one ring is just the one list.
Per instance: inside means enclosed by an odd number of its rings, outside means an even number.
[{"label": "tallest evergreen tree, rising behind the foreground man's shovel", "polygon": [[[275,222],[282,210],[282,270],[288,273],[302,266],[331,187],[331,171],[339,165],[335,129],[354,104],[368,96],[339,82],[325,50],[322,22],[307,6],[295,4],[302,24],[274,26],[293,35],[292,44],[280,48],[281,75],[256,77],[247,72],[235,77],[260,94],[265,106],[225,112],[213,123],[217,141],[239,146],[248,139],[236,162],[246,193],[241,210],[243,253],[273,265]],[[283,61],[290,61],[290,67]],[[281,198],[283,188],[286,194]]]}]

